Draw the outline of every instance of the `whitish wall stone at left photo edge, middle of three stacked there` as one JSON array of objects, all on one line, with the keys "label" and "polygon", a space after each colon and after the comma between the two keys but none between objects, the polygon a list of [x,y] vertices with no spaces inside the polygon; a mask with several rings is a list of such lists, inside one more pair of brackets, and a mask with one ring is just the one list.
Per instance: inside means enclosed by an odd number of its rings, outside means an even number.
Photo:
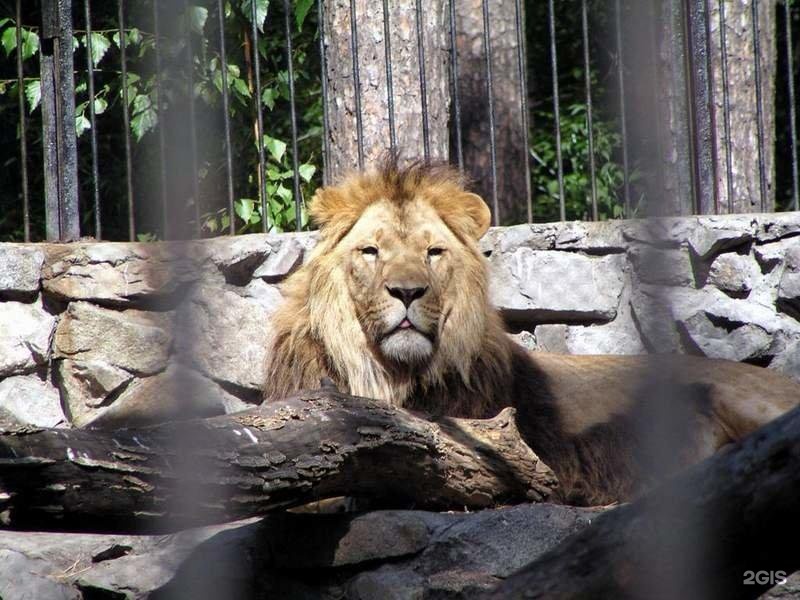
[{"label": "whitish wall stone at left photo edge, middle of three stacked there", "polygon": [[30,371],[50,358],[56,318],[41,300],[0,302],[0,377]]}]

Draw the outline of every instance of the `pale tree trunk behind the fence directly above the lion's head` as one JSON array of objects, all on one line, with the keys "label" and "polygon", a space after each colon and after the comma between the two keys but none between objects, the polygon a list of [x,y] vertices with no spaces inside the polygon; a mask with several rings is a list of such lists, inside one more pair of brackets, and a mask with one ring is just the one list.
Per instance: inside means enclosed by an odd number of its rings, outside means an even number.
[{"label": "pale tree trunk behind the fence directly above the lion's head", "polygon": [[[425,58],[425,103],[429,152],[433,159],[448,159],[450,114],[449,27],[445,2],[420,2]],[[361,115],[365,167],[390,148],[390,111],[385,60],[384,15],[381,2],[355,0],[360,79],[357,110],[350,1],[325,3],[325,60],[328,84],[327,132],[330,144],[328,181],[336,181],[359,167],[357,113]],[[389,3],[392,98],[397,148],[404,160],[425,155],[423,94],[417,47],[414,0]]]}]

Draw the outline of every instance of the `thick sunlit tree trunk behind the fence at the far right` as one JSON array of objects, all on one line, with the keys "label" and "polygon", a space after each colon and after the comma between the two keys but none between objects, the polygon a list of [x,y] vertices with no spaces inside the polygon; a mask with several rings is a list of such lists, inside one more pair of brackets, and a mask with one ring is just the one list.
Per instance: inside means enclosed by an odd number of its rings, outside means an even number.
[{"label": "thick sunlit tree trunk behind the fence at the far right", "polygon": [[[774,145],[775,145],[775,0],[758,2],[760,43],[760,90],[763,128],[759,130],[759,104],[756,95],[755,36],[753,4],[757,0],[725,1],[725,48],[727,51],[727,99],[725,110],[719,2],[695,6],[670,0],[662,5],[659,19],[658,71],[663,96],[657,104],[660,115],[660,164],[663,197],[656,198],[651,214],[686,215],[696,213],[771,212],[775,206]],[[688,4],[688,6],[687,6]],[[691,11],[706,14],[710,9],[709,27],[696,23],[698,29],[688,39],[687,23]],[[705,37],[708,33],[709,37]],[[693,45],[700,36],[700,46]],[[708,45],[706,60],[702,45]],[[710,83],[700,73],[708,68]],[[694,89],[692,88],[694,86]],[[710,93],[710,98],[704,94]],[[692,96],[691,98],[689,96]],[[710,102],[710,110],[708,103]],[[695,110],[707,110],[692,122],[692,103]],[[726,136],[726,114],[729,130]],[[699,132],[699,133],[698,133]],[[761,133],[761,144],[759,144]],[[701,138],[698,141],[698,138]],[[728,189],[728,156],[726,140],[730,142],[731,185]],[[695,152],[706,152],[708,165],[694,161]],[[697,144],[707,147],[699,148]],[[763,162],[764,194],[760,163]],[[708,170],[706,178],[703,170]],[[694,171],[694,173],[693,173]],[[694,185],[706,189],[695,203]],[[705,197],[703,197],[705,196]]]}]

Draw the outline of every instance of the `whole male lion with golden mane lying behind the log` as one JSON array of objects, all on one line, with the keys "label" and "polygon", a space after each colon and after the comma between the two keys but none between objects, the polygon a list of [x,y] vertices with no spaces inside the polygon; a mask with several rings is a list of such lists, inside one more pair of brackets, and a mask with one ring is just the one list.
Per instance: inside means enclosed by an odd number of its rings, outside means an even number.
[{"label": "whole male lion with golden mane lying behind the log", "polygon": [[487,418],[513,406],[573,504],[643,489],[654,424],[673,422],[676,469],[800,404],[800,386],[751,365],[522,348],[489,300],[478,246],[489,209],[447,165],[388,161],[319,189],[309,212],[319,242],[282,287],[266,400],[327,378],[430,416]]}]

